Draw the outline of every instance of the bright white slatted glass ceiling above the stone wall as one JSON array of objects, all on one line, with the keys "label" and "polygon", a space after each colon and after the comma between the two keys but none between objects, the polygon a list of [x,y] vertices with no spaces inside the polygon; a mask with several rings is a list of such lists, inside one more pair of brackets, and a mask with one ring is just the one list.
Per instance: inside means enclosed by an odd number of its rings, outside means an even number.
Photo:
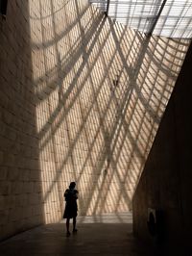
[{"label": "bright white slatted glass ceiling above the stone wall", "polygon": [[192,0],[89,0],[112,19],[144,33],[192,38]]}]

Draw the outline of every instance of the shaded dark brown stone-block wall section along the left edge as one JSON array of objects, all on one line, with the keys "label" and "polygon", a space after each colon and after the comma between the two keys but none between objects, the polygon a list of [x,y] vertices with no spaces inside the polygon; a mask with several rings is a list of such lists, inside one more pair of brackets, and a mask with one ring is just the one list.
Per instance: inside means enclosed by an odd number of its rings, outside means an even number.
[{"label": "shaded dark brown stone-block wall section along the left edge", "polygon": [[0,16],[0,240],[44,221],[28,1]]}]

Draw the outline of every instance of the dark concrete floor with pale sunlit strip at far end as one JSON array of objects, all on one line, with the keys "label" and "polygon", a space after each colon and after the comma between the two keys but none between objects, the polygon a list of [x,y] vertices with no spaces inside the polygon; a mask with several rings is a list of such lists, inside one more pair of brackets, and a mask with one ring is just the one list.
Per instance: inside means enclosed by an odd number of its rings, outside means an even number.
[{"label": "dark concrete floor with pale sunlit strip at far end", "polygon": [[48,224],[0,243],[0,255],[155,255],[132,237],[132,215],[78,218],[78,233],[65,235],[65,224]]}]

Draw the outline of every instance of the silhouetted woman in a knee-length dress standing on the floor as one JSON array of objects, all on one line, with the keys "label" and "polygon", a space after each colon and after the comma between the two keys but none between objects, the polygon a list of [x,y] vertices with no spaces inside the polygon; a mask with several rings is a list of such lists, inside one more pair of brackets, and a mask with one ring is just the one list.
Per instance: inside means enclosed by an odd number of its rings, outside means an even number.
[{"label": "silhouetted woman in a knee-length dress standing on the floor", "polygon": [[70,218],[73,218],[73,232],[77,232],[76,229],[76,217],[78,215],[78,205],[77,205],[77,199],[78,199],[78,191],[75,190],[76,183],[71,182],[69,185],[69,189],[67,189],[64,192],[64,198],[65,198],[65,209],[63,218],[66,218],[66,235],[70,236],[69,231],[69,223]]}]

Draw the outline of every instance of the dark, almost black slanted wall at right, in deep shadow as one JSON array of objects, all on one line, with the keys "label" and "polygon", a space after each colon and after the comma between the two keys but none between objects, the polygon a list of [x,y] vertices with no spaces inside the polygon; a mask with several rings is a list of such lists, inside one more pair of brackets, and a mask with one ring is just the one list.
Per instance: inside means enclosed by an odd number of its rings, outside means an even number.
[{"label": "dark, almost black slanted wall at right, in deep shadow", "polygon": [[133,197],[133,229],[142,239],[156,242],[147,229],[148,208],[161,211],[166,255],[191,255],[192,249],[191,66],[192,45]]}]

